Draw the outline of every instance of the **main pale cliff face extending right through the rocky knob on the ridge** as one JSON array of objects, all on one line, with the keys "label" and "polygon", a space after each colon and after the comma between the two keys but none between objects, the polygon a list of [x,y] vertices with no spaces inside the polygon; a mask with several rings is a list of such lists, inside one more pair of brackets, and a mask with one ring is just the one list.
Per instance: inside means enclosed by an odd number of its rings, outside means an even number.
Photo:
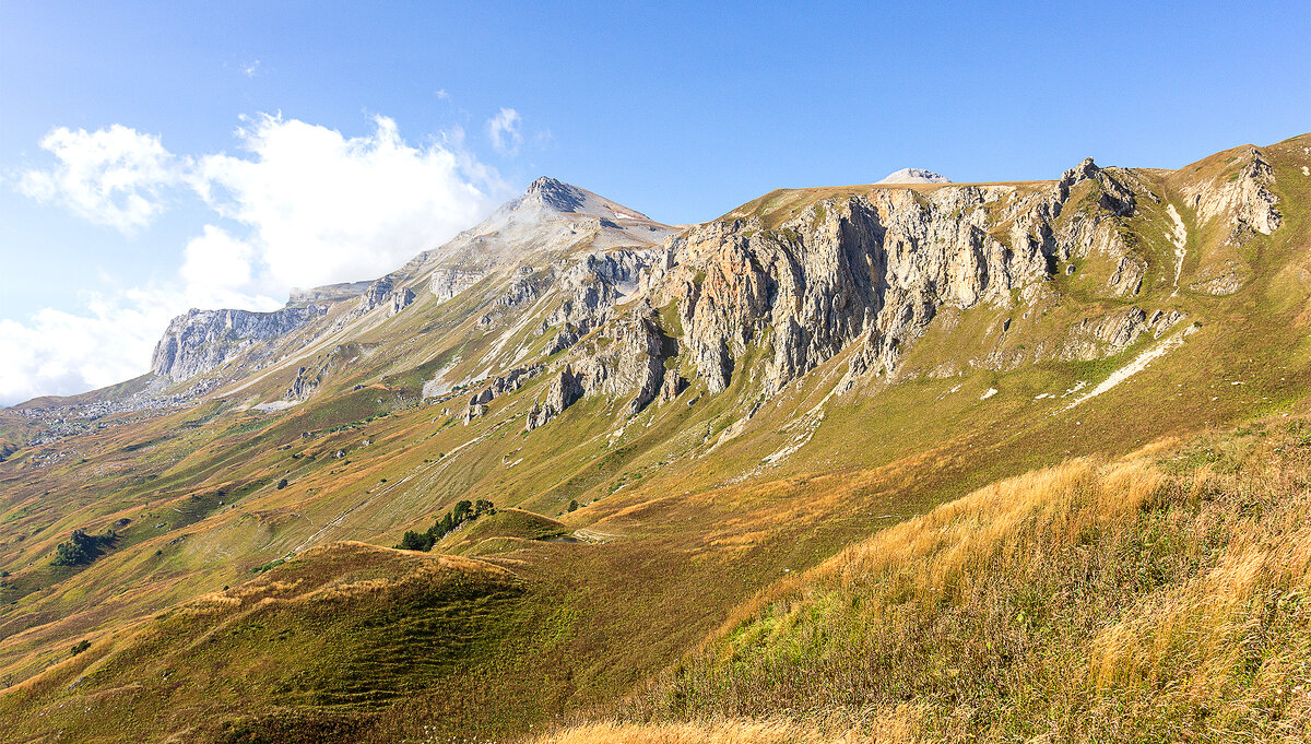
[{"label": "main pale cliff face extending right through the rocky knob on the ridge", "polygon": [[712,393],[753,344],[767,358],[767,394],[856,342],[853,369],[893,371],[941,308],[1009,308],[1013,291],[1032,293],[1062,261],[1106,254],[1117,267],[1104,293],[1137,293],[1146,262],[1118,221],[1137,208],[1129,178],[1088,158],[1044,190],[876,189],[772,227],[755,216],[697,225],[671,241],[663,292]]}]

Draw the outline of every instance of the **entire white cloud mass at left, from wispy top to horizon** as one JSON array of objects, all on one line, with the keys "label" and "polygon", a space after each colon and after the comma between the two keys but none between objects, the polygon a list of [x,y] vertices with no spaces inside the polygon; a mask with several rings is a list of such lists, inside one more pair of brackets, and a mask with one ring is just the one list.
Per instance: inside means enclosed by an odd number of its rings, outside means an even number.
[{"label": "entire white cloud mass at left, from wispy top to horizon", "polygon": [[[492,145],[518,151],[520,117],[488,121]],[[45,308],[0,318],[0,405],[80,393],[147,371],[169,320],[190,308],[270,310],[294,287],[380,276],[471,227],[509,194],[497,170],[464,147],[461,130],[425,145],[396,122],[341,132],[260,114],[236,132],[239,155],[177,155],[122,124],[56,127],[41,140],[52,162],[14,187],[123,234],[138,234],[177,202],[210,216],[180,246],[176,276],[80,295],[83,312]]]}]

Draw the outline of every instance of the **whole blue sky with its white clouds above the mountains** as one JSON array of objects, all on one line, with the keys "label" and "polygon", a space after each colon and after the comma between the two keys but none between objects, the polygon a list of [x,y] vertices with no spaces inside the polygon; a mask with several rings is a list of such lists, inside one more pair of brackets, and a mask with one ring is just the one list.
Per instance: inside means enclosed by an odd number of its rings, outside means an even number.
[{"label": "whole blue sky with its white clouds above the mountains", "polygon": [[684,223],[1308,128],[1304,1],[8,0],[0,403],[143,372],[186,307],[384,274],[540,174]]}]

